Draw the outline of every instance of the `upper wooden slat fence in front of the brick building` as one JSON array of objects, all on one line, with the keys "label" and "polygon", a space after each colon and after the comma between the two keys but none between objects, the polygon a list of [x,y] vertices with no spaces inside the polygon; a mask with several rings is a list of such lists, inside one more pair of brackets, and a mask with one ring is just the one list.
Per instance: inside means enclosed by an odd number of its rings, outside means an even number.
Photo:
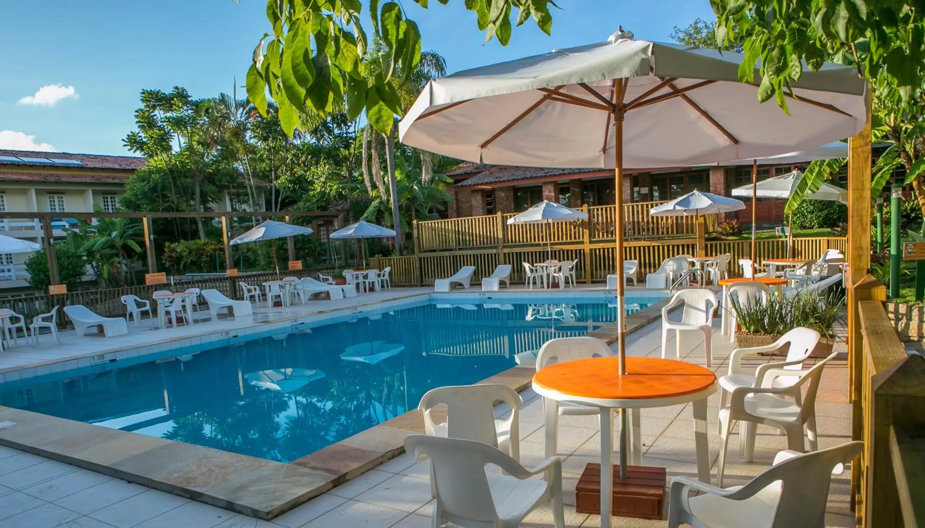
[{"label": "upper wooden slat fence in front of the brick building", "polygon": [[[657,217],[649,209],[664,202],[627,203],[623,205],[623,238],[627,240],[693,237],[697,234],[697,218],[693,216]],[[583,208],[587,222],[552,224],[518,224],[507,221],[514,214],[469,216],[448,220],[429,220],[414,226],[414,242],[418,252],[476,249],[494,246],[568,244],[589,239],[595,242],[613,240],[616,233],[616,206],[598,205]],[[716,215],[704,217],[707,230],[712,231]]]}]

